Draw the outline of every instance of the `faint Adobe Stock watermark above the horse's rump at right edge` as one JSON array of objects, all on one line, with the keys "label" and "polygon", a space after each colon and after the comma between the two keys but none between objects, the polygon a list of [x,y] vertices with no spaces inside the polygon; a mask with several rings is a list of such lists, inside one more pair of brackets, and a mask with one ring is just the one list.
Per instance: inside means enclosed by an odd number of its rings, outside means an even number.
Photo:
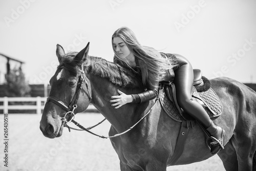
[{"label": "faint Adobe Stock watermark above the horse's rump at right edge", "polygon": [[[256,45],[256,41],[253,41],[252,38],[245,39],[245,44],[243,45],[243,48],[239,49],[236,53],[232,53],[232,55],[227,57],[227,62],[230,63],[230,65],[233,67],[237,64],[239,60],[242,59],[246,55],[246,52],[250,51],[254,45]],[[227,74],[229,72],[229,67],[227,65],[223,65],[219,71],[214,71],[212,74],[214,77],[223,77],[224,74]]]}]

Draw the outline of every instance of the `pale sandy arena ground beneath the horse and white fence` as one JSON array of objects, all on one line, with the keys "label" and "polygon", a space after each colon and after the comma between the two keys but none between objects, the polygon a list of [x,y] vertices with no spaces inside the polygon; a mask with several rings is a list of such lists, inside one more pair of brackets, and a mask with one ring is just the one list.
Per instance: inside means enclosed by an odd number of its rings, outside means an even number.
[{"label": "pale sandy arena ground beneath the horse and white fence", "polygon": [[[86,132],[67,129],[60,138],[48,139],[39,130],[39,115],[9,115],[9,164],[4,166],[3,115],[0,115],[0,170],[120,170],[119,159],[109,139]],[[100,114],[78,114],[76,120],[91,126],[103,119]],[[110,123],[105,121],[94,131],[108,135]],[[208,160],[167,170],[225,170],[218,156]]]}]

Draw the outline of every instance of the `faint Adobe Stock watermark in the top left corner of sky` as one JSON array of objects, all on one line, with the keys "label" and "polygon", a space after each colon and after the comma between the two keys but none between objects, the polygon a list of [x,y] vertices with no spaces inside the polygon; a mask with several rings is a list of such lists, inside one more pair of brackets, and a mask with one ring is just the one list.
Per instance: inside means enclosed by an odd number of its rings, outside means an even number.
[{"label": "faint Adobe Stock watermark in the top left corner of sky", "polygon": [[20,15],[22,15],[31,6],[31,3],[34,3],[35,1],[36,0],[20,0],[20,5],[16,9],[11,9],[11,16],[4,17],[7,27],[10,27],[10,24],[14,23]]}]

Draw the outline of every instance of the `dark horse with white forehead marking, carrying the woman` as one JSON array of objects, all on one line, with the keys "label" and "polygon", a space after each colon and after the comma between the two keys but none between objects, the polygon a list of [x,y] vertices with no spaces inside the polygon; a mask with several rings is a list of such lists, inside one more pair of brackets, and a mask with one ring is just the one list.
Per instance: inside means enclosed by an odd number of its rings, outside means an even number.
[{"label": "dark horse with white forehead marking, carrying the woman", "polygon": [[[89,43],[79,53],[67,54],[57,45],[59,66],[50,79],[51,91],[39,126],[42,134],[60,137],[70,117],[85,111],[90,103],[111,123],[109,136],[124,132],[149,113],[129,132],[110,140],[119,157],[120,170],[166,170],[176,148],[180,122],[169,118],[157,100],[127,103],[114,109],[109,101],[111,96],[119,95],[117,89],[125,94],[140,93],[144,91],[141,80],[131,69],[88,53]],[[224,106],[222,115],[214,120],[226,131],[225,148],[217,155],[226,170],[255,170],[256,92],[226,77],[210,82]],[[210,157],[205,135],[196,124],[189,130],[184,151],[175,165]]]}]

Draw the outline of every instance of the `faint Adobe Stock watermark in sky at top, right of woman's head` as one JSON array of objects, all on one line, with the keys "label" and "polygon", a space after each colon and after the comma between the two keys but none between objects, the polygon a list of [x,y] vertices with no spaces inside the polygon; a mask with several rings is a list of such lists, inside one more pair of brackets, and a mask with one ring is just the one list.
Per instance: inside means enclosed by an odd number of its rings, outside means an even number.
[{"label": "faint Adobe Stock watermark in sky at top, right of woman's head", "polygon": [[174,22],[174,26],[177,29],[178,32],[180,32],[181,28],[184,28],[186,25],[188,25],[191,21],[191,19],[195,18],[195,16],[201,11],[202,8],[206,7],[206,3],[204,0],[200,0],[198,2],[198,5],[191,6],[190,10],[187,11],[186,14],[181,14],[181,20],[180,22]]}]

